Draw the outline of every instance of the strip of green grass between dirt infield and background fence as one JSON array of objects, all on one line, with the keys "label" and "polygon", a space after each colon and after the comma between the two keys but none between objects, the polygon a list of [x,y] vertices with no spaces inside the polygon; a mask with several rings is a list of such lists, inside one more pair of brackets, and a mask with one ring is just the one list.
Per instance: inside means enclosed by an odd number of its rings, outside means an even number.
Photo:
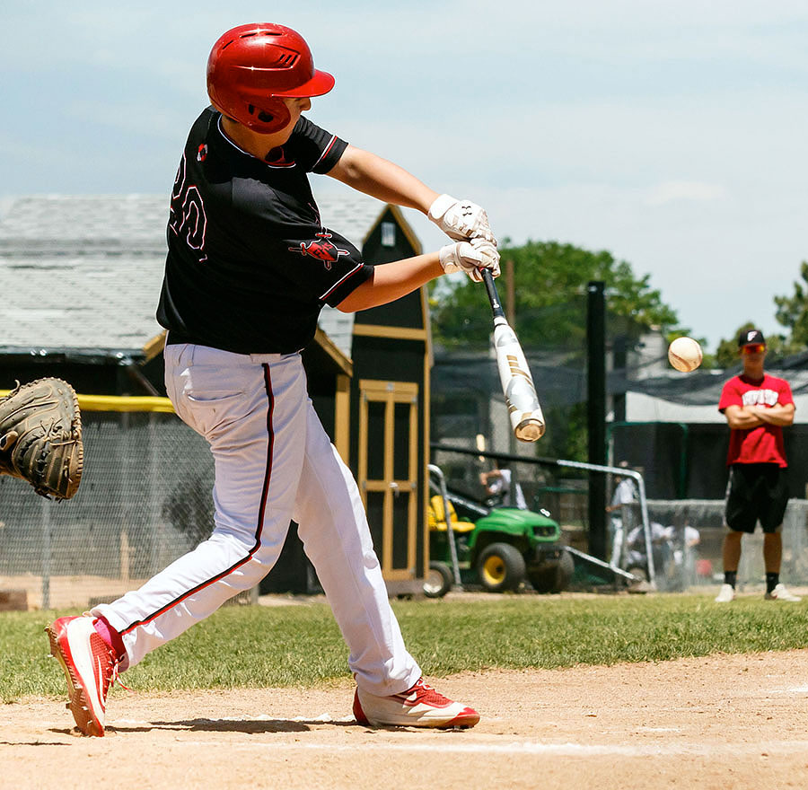
[{"label": "strip of green grass between dirt infield and background fence", "polygon": [[[808,647],[808,608],[706,595],[501,596],[395,601],[409,651],[432,677],[485,668],[667,661]],[[72,613],[72,612],[71,612]],[[43,628],[61,613],[0,614],[0,698],[63,695]],[[133,689],[308,687],[347,680],[347,647],[325,603],[226,607],[149,654]]]}]

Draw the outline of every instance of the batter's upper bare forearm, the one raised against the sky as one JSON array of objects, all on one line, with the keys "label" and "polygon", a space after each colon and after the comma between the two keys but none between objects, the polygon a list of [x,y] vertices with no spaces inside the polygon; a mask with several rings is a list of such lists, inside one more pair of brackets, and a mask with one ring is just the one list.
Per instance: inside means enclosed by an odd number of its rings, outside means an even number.
[{"label": "batter's upper bare forearm, the one raised against the sky", "polygon": [[348,145],[329,176],[385,203],[417,208],[424,214],[438,197],[434,189],[398,164],[353,145]]}]

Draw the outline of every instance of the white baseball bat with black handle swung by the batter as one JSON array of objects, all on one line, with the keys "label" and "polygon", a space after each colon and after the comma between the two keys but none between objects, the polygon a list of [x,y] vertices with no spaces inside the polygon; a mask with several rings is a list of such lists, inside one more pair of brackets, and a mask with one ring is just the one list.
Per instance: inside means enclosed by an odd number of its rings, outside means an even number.
[{"label": "white baseball bat with black handle swung by the batter", "polygon": [[491,270],[481,268],[480,272],[486,284],[491,312],[494,313],[496,366],[499,369],[499,381],[508,406],[508,415],[511,417],[511,427],[521,442],[535,442],[544,434],[545,425],[539,397],[533,386],[531,369],[514,329],[511,329],[505,318]]}]

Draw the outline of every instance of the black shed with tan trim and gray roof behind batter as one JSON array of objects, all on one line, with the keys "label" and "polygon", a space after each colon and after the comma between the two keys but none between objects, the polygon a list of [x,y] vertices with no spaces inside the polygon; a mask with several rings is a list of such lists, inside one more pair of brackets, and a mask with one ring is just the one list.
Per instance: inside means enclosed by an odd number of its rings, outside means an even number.
[{"label": "black shed with tan trim and gray roof behind batter", "polygon": [[[369,263],[421,251],[396,206],[353,190],[318,196],[318,205],[323,223],[363,250]],[[167,250],[167,197],[42,195],[17,198],[2,208],[0,288],[6,305],[0,313],[0,390],[10,389],[15,379],[56,375],[84,395],[164,395],[164,334],[154,313]],[[423,492],[431,348],[426,290],[390,307],[356,317],[323,310],[303,364],[323,426],[343,458],[354,456],[350,465],[364,496],[368,487],[385,487],[369,516],[373,537],[391,592],[413,593],[423,583],[428,562]],[[364,360],[356,370],[355,337]],[[378,364],[380,343],[386,372]],[[407,381],[407,366],[417,382]],[[391,381],[378,381],[382,375]],[[373,408],[368,419],[367,409],[352,405],[360,391],[364,401],[384,410],[381,423]],[[395,452],[392,447],[387,452],[390,458],[406,459],[408,472],[401,481],[406,494],[394,503],[391,486],[398,490],[398,483],[390,464],[382,474],[360,468],[356,458],[358,452],[366,459],[368,448],[384,445],[383,423],[394,422],[400,430],[401,408],[408,409],[407,431],[400,442],[395,440]],[[406,518],[393,524],[393,505],[400,519],[401,499],[407,500]],[[307,591],[311,569],[294,530],[284,552],[285,561],[265,581],[277,592]]]}]

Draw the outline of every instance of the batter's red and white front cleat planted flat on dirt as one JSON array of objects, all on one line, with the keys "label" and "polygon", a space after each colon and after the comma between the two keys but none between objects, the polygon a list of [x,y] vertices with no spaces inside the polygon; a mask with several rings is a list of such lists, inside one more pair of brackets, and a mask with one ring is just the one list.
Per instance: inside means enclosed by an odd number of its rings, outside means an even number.
[{"label": "batter's red and white front cleat planted flat on dirt", "polygon": [[358,724],[374,727],[473,727],[479,722],[479,713],[460,702],[452,702],[421,678],[400,694],[376,697],[356,689],[354,717]]}]

